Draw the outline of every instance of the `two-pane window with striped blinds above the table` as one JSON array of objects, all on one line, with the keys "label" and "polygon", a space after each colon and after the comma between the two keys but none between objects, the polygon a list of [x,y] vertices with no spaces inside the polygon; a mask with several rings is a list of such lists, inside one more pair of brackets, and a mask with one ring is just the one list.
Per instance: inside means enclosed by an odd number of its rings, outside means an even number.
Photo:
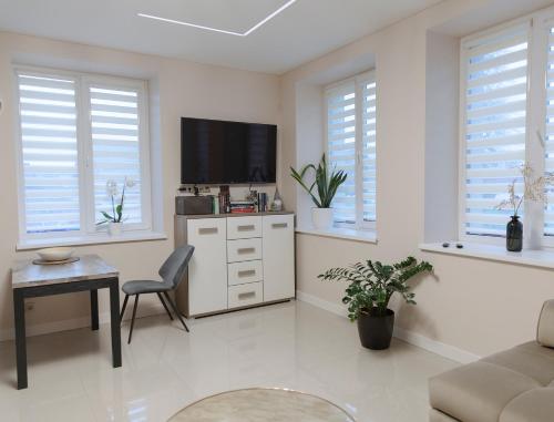
[{"label": "two-pane window with striped blinds above the table", "polygon": [[148,230],[150,142],[143,81],[16,70],[20,110],[20,237],[105,231],[106,184],[125,179],[125,229]]}]

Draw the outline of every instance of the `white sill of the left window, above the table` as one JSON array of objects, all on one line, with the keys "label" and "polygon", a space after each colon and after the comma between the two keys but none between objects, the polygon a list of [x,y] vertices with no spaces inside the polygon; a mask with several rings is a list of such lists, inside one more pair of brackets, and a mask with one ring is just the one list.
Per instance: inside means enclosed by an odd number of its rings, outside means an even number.
[{"label": "white sill of the left window, above the table", "polygon": [[167,235],[154,231],[129,231],[121,236],[110,236],[107,234],[98,234],[75,237],[57,237],[45,239],[25,239],[18,243],[16,250],[32,250],[49,248],[53,246],[84,246],[84,245],[104,245],[122,244],[130,241],[166,240]]}]

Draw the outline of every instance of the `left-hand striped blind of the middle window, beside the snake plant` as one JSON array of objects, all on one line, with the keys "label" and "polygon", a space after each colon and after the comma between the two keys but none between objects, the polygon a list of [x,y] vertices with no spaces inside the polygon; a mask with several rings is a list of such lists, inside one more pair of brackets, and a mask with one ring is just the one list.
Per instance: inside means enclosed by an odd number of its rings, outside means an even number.
[{"label": "left-hand striped blind of the middle window, beside the snake plant", "polygon": [[326,92],[327,151],[330,169],[346,172],[332,207],[337,223],[356,223],[356,85],[349,81]]}]

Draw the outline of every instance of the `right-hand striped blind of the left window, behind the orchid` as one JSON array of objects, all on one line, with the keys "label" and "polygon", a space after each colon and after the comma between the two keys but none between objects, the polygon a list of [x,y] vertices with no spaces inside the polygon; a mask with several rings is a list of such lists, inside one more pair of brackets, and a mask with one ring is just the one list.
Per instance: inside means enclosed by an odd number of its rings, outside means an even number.
[{"label": "right-hand striped blind of the left window, behind the orchid", "polygon": [[91,85],[89,94],[95,220],[104,219],[101,212],[113,214],[113,205],[106,195],[106,183],[117,183],[122,193],[125,181],[130,181],[134,186],[125,191],[124,223],[141,223],[138,92]]}]

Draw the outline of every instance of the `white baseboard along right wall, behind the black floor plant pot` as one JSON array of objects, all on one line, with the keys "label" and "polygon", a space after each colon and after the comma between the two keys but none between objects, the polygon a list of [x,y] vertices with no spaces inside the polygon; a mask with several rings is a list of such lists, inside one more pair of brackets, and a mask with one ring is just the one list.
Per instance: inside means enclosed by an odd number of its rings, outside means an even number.
[{"label": "white baseboard along right wall, behind the black floor plant pot", "polygon": [[[306,294],[304,291],[297,290],[296,298],[298,300],[305,301],[307,303],[314,305],[318,308],[325,309],[329,312],[338,315],[339,317],[347,317],[346,308],[340,305],[329,302],[327,300],[320,299],[314,295]],[[407,343],[417,346],[421,349],[428,350],[435,354],[442,356],[444,358],[451,359],[460,363],[471,363],[479,359],[479,356],[470,353],[465,350],[459,349],[454,346],[445,344],[437,340],[432,340],[425,336],[411,332],[400,327],[394,327],[393,336]]]}]

